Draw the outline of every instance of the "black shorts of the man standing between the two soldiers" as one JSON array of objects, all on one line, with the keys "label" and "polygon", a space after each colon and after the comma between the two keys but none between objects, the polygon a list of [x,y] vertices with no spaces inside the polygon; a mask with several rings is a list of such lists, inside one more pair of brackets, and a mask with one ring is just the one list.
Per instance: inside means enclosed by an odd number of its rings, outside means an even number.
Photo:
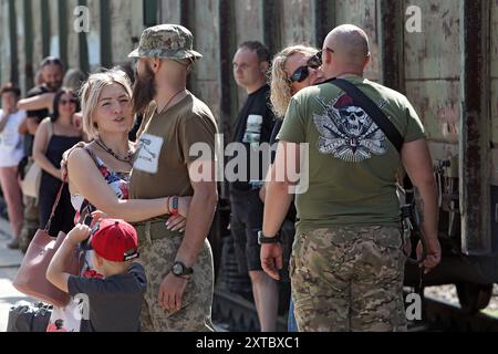
[{"label": "black shorts of the man standing between the two soldiers", "polygon": [[234,237],[237,264],[241,273],[261,271],[258,231],[262,229],[263,204],[259,190],[230,191],[230,232]]}]

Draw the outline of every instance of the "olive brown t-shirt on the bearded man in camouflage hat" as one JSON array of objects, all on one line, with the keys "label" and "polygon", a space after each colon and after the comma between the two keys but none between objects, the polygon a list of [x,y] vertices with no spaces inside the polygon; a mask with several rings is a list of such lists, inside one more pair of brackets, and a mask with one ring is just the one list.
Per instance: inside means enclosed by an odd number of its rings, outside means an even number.
[{"label": "olive brown t-shirt on the bearded man in camouflage hat", "polygon": [[[153,199],[194,194],[187,165],[197,158],[215,160],[216,121],[208,106],[189,94],[163,114],[143,122],[133,165],[129,196]],[[204,143],[209,154],[190,154]]]}]

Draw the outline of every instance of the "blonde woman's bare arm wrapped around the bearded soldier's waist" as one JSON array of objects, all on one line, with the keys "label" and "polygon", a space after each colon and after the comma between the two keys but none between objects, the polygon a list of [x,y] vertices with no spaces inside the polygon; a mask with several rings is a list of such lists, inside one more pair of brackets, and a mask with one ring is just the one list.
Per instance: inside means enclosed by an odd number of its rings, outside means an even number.
[{"label": "blonde woman's bare arm wrapped around the bearded soldier's waist", "polygon": [[[90,155],[82,148],[74,149],[68,158],[68,173],[73,192],[84,196],[98,210],[111,218],[137,222],[168,215],[168,198],[156,199],[118,199],[110,188]],[[185,214],[189,198],[179,198],[180,212]]]}]

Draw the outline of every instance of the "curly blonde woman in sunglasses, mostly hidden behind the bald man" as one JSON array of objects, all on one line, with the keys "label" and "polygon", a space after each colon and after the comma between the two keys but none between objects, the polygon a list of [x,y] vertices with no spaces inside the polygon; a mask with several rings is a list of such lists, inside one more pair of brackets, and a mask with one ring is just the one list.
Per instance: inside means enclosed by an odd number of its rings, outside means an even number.
[{"label": "curly blonde woman in sunglasses, mostly hidden behind the bald man", "polygon": [[[277,135],[282,126],[289,102],[301,88],[323,81],[320,71],[321,59],[317,55],[318,49],[305,45],[292,45],[277,53],[272,61],[270,73],[270,101],[277,123],[271,134],[270,144],[277,143]],[[274,156],[272,156],[272,159]],[[260,197],[264,201],[266,188],[261,188]],[[282,247],[284,254],[284,269],[288,268],[292,241],[294,236],[295,209],[291,208],[282,225]],[[297,332],[293,302],[289,308],[288,331]]]}]

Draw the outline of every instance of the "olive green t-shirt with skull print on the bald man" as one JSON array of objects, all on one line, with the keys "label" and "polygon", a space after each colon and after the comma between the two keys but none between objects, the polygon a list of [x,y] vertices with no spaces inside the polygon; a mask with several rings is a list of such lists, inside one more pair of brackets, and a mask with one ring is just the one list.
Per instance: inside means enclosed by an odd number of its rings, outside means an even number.
[{"label": "olive green t-shirt with skull print on the bald man", "polygon": [[[405,143],[425,137],[408,100],[360,76],[346,77],[386,114]],[[298,229],[397,226],[394,145],[352,98],[331,83],[300,91],[290,102],[281,142],[309,143],[309,189],[295,196]]]}]

